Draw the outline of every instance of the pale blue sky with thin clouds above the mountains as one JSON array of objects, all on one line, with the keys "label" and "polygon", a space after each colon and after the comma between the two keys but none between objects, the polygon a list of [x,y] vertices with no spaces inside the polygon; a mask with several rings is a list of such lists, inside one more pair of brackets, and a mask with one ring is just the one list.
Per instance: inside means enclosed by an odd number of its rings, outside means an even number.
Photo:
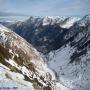
[{"label": "pale blue sky with thin clouds above the mountains", "polygon": [[84,16],[90,0],[0,0],[0,12],[31,16]]}]

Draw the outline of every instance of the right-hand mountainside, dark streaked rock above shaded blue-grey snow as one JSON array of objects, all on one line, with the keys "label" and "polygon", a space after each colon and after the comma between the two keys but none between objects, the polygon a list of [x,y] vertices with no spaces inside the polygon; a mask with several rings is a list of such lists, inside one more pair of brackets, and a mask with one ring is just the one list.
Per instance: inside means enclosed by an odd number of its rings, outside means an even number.
[{"label": "right-hand mountainside, dark streaked rock above shaded blue-grey snow", "polygon": [[66,43],[43,58],[70,90],[90,89],[90,15],[75,23],[64,36]]}]

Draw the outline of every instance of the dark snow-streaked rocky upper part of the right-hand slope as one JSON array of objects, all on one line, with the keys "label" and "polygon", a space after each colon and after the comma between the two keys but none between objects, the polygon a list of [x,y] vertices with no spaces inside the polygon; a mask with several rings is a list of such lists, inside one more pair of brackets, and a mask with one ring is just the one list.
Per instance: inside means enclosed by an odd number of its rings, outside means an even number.
[{"label": "dark snow-streaked rocky upper part of the right-hand slope", "polygon": [[71,56],[71,62],[80,60],[90,49],[90,17],[85,16],[82,20],[74,24],[67,33],[71,47],[76,50]]}]

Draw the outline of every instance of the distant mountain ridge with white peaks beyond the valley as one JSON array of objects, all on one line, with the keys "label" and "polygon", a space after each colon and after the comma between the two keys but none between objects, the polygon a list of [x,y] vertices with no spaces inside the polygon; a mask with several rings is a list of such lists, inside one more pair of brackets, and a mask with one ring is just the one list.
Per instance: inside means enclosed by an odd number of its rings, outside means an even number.
[{"label": "distant mountain ridge with white peaks beyond the valley", "polygon": [[63,35],[76,21],[77,18],[66,19],[59,16],[30,17],[25,22],[17,22],[8,27],[25,38],[38,51],[47,53],[58,49],[64,43]]}]

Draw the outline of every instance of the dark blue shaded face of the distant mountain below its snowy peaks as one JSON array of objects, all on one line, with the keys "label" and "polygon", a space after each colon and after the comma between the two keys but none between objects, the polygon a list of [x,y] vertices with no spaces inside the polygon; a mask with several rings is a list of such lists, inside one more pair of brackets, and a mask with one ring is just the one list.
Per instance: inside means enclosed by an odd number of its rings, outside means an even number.
[{"label": "dark blue shaded face of the distant mountain below its snowy peaks", "polygon": [[18,22],[9,27],[25,38],[38,51],[46,54],[51,50],[60,48],[65,43],[64,36],[67,29],[60,28],[57,24],[43,26],[39,23],[39,25],[36,26],[35,23],[38,23],[37,20],[33,24],[28,22],[29,21],[26,21],[20,25],[18,25]]}]

